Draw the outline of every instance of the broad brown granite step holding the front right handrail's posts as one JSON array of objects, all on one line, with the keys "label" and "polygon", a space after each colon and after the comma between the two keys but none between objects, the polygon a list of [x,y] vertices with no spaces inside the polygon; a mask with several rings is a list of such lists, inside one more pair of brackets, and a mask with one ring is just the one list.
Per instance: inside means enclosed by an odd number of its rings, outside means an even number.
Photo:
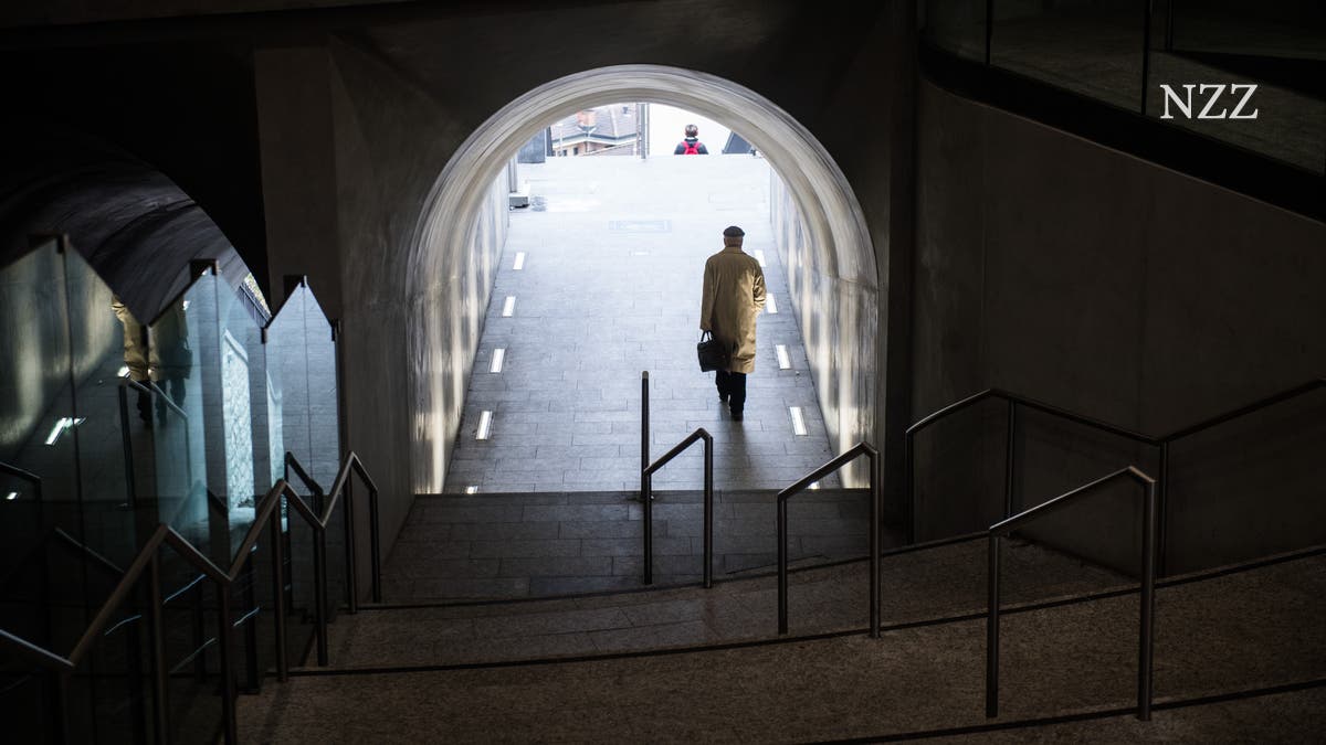
[{"label": "broad brown granite step holding the front right handrail's posts", "polygon": [[[1326,669],[1321,555],[1164,587],[1156,598],[1155,695],[1163,705],[1305,684]],[[1116,715],[1136,696],[1136,595],[1008,614],[1000,718]],[[690,654],[412,672],[305,675],[240,703],[240,736],[261,742],[875,741],[984,726],[983,620]],[[1318,688],[1311,688],[1318,687]],[[354,705],[346,705],[354,701]],[[1228,732],[1310,741],[1319,707],[1266,695],[1229,703]],[[1114,716],[1022,729],[1020,741],[1163,740],[1216,733],[1207,716],[1162,709],[1152,724]],[[1208,718],[1208,716],[1211,718]],[[1286,717],[1286,718],[1278,718]],[[1213,721],[1212,721],[1213,720]],[[1066,726],[1067,729],[1054,729]],[[1257,733],[1262,736],[1258,737]],[[1224,740],[1228,741],[1228,740]]]}]

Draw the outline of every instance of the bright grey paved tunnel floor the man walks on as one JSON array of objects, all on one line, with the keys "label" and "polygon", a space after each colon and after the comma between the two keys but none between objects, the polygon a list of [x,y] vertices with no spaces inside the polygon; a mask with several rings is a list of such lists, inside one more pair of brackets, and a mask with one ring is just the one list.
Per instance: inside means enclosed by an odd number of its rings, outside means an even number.
[{"label": "bright grey paved tunnel floor the man walks on", "polygon": [[[520,167],[533,205],[511,215],[446,492],[639,488],[646,370],[651,456],[704,427],[720,489],[782,488],[837,455],[773,248],[768,163],[683,160],[564,158]],[[747,231],[747,253],[764,261],[769,296],[743,422],[731,419],[713,374],[700,372],[695,357],[704,261],[731,224]],[[477,439],[480,428],[487,439]],[[695,445],[654,485],[699,489],[701,477]]]}]

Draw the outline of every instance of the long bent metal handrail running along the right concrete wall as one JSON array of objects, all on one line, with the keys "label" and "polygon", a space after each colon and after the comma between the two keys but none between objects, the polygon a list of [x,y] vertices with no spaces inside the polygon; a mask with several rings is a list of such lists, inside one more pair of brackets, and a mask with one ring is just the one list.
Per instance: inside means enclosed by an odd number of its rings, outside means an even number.
[{"label": "long bent metal handrail running along the right concrete wall", "polygon": [[1167,525],[1168,520],[1166,517],[1167,512],[1168,512],[1167,508],[1166,508],[1166,496],[1167,496],[1167,492],[1168,492],[1168,481],[1170,481],[1170,445],[1172,443],[1177,441],[1177,440],[1181,440],[1184,437],[1196,435],[1197,432],[1203,432],[1205,430],[1211,430],[1212,427],[1217,427],[1220,424],[1225,424],[1225,423],[1232,422],[1235,419],[1240,419],[1242,416],[1248,416],[1250,414],[1256,414],[1256,412],[1258,412],[1258,411],[1261,411],[1264,408],[1276,406],[1278,403],[1288,402],[1290,399],[1296,399],[1298,396],[1302,396],[1305,394],[1309,394],[1309,392],[1313,392],[1313,391],[1317,391],[1317,390],[1321,390],[1321,388],[1326,388],[1326,378],[1314,378],[1314,379],[1307,380],[1306,383],[1302,383],[1302,384],[1296,386],[1293,388],[1289,388],[1289,390],[1285,390],[1285,391],[1281,391],[1278,394],[1273,394],[1273,395],[1269,395],[1269,396],[1264,396],[1261,399],[1257,399],[1254,402],[1246,403],[1246,404],[1240,406],[1237,408],[1232,408],[1229,411],[1225,411],[1224,414],[1219,414],[1216,416],[1204,419],[1204,420],[1201,420],[1201,422],[1199,422],[1196,424],[1191,424],[1188,427],[1184,427],[1181,430],[1176,430],[1174,432],[1170,432],[1168,435],[1162,435],[1162,436],[1146,435],[1146,433],[1142,433],[1142,432],[1135,432],[1132,430],[1118,427],[1115,424],[1110,424],[1110,423],[1099,420],[1099,419],[1093,419],[1090,416],[1085,416],[1085,415],[1081,415],[1081,414],[1077,414],[1077,412],[1073,412],[1073,411],[1069,411],[1069,410],[1065,410],[1065,408],[1059,408],[1057,406],[1053,406],[1053,404],[1049,404],[1049,403],[1045,403],[1045,402],[1041,402],[1041,400],[1036,400],[1036,399],[1026,398],[1026,396],[1022,396],[1022,395],[1018,395],[1018,394],[1013,394],[1013,392],[1009,392],[1009,391],[1005,391],[1005,390],[1001,390],[1001,388],[987,388],[987,390],[984,390],[984,391],[981,391],[979,394],[975,394],[975,395],[968,396],[965,399],[961,399],[959,402],[951,403],[951,404],[948,404],[948,406],[945,406],[945,407],[935,411],[934,414],[931,414],[931,415],[928,415],[928,416],[918,420],[915,424],[912,424],[911,427],[908,427],[906,430],[904,436],[903,436],[903,464],[904,464],[904,487],[903,487],[903,489],[904,489],[904,493],[906,493],[906,504],[911,509],[911,540],[915,541],[916,540],[916,533],[918,533],[918,530],[916,530],[916,512],[918,512],[916,510],[916,485],[915,485],[915,463],[914,463],[914,460],[915,460],[915,444],[914,443],[915,443],[916,433],[920,432],[920,431],[923,431],[923,430],[926,430],[926,428],[928,428],[930,426],[935,424],[936,422],[939,422],[941,419],[945,419],[945,418],[948,418],[948,416],[951,416],[953,414],[957,414],[957,412],[960,412],[963,410],[967,410],[967,408],[969,408],[969,407],[972,407],[972,406],[975,406],[975,404],[977,404],[977,403],[980,403],[980,402],[983,402],[985,399],[994,398],[994,399],[1001,399],[1001,400],[1008,402],[1008,435],[1006,435],[1006,441],[1005,441],[1005,461],[1004,461],[1004,473],[1005,473],[1005,481],[1004,481],[1004,516],[1005,517],[1009,517],[1009,516],[1013,514],[1013,484],[1014,484],[1013,449],[1014,449],[1014,443],[1016,443],[1016,439],[1017,439],[1017,407],[1020,407],[1020,406],[1021,407],[1026,407],[1026,408],[1032,408],[1032,410],[1036,410],[1036,411],[1041,411],[1041,412],[1049,414],[1052,416],[1055,416],[1055,418],[1059,418],[1059,419],[1065,419],[1067,422],[1074,422],[1074,423],[1078,423],[1078,424],[1083,424],[1086,427],[1090,427],[1093,430],[1098,430],[1101,432],[1106,432],[1106,433],[1110,433],[1110,435],[1116,435],[1119,437],[1124,437],[1124,439],[1135,441],[1135,443],[1140,443],[1140,444],[1144,444],[1144,445],[1159,448],[1160,449],[1160,477],[1158,480],[1158,493],[1159,493],[1159,500],[1160,500],[1160,525],[1159,525],[1158,532],[1159,532],[1159,541],[1162,544],[1162,563],[1163,563],[1163,561],[1164,561],[1163,546],[1166,544],[1166,534],[1168,532],[1168,525]]}]

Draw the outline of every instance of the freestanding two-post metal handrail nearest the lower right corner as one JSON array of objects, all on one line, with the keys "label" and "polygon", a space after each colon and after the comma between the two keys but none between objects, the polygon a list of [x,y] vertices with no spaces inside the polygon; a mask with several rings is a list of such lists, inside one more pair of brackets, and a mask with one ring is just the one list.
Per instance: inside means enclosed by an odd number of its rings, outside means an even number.
[{"label": "freestanding two-post metal handrail nearest the lower right corner", "polygon": [[1136,467],[1127,467],[1103,476],[1008,517],[989,528],[989,559],[987,563],[988,598],[985,619],[985,716],[998,716],[998,622],[1000,622],[1000,537],[1006,536],[1048,513],[1058,512],[1079,497],[1118,479],[1131,479],[1146,492],[1146,508],[1142,517],[1142,610],[1138,620],[1138,718],[1151,718],[1152,699],[1152,659],[1155,651],[1155,585],[1156,585],[1156,533],[1159,508],[1156,500],[1156,480]]}]

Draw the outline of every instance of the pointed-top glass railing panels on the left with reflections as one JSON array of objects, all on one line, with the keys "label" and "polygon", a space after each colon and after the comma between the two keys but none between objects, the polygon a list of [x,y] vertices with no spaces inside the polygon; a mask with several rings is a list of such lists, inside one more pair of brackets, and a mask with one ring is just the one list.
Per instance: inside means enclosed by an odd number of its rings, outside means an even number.
[{"label": "pointed-top glass railing panels on the left with reflections", "polygon": [[[300,282],[268,319],[215,262],[192,274],[164,308],[143,309],[64,239],[0,266],[0,630],[69,655],[159,524],[228,570],[288,452],[324,489],[335,480],[335,339],[313,293]],[[335,607],[345,540],[335,522],[329,530]],[[274,667],[273,598],[285,598],[286,661],[301,664],[313,643],[313,530],[290,514],[281,542],[280,591],[265,536],[229,586],[241,692]],[[215,742],[217,590],[174,551],[159,553],[159,573],[168,738]],[[62,695],[50,688],[58,676],[0,663],[7,733],[49,736],[60,695],[69,741],[156,738],[149,585],[114,610]]]}]

